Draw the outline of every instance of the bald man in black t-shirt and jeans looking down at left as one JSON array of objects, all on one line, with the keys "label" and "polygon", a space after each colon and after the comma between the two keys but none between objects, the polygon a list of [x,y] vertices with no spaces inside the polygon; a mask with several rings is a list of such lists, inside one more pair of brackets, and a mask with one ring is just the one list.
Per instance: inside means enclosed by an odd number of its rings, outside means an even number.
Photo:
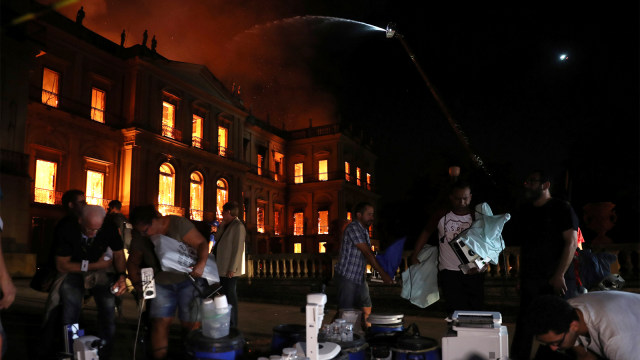
[{"label": "bald man in black t-shirt and jeans looking down at left", "polygon": [[[89,290],[98,307],[99,337],[106,341],[100,358],[108,359],[115,334],[112,291],[116,295],[124,293],[126,274],[122,238],[114,225],[104,223],[104,217],[105,210],[100,206],[83,207],[78,231],[67,233],[58,244],[56,267],[66,274],[60,286],[63,324],[78,322],[85,290]],[[116,279],[105,271],[112,265]]]}]

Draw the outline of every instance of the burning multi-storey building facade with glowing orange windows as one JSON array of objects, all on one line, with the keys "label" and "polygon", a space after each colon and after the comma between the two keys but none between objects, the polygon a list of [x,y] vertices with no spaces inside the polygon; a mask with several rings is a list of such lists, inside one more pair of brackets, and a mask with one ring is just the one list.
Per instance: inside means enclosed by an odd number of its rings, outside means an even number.
[{"label": "burning multi-storey building facade with glowing orange windows", "polygon": [[[3,13],[33,11],[23,7],[3,2]],[[377,199],[375,155],[339,124],[276,129],[207,67],[125,48],[55,12],[6,28],[9,252],[46,251],[69,189],[105,207],[120,200],[125,214],[152,203],[200,228],[237,201],[253,253],[337,251],[350,209]]]}]

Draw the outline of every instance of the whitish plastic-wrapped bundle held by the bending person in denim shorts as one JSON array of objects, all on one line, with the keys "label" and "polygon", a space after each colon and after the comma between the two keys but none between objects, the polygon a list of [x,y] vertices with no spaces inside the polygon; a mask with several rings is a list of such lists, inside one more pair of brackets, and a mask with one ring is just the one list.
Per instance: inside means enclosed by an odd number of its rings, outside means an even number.
[{"label": "whitish plastic-wrapped bundle held by the bending person in denim shorts", "polygon": [[[162,271],[190,273],[193,270],[192,267],[198,260],[196,249],[174,238],[160,234],[151,236],[151,242],[154,245],[158,260],[160,260]],[[213,254],[209,254],[202,278],[207,279],[209,285],[220,282],[218,266]]]}]

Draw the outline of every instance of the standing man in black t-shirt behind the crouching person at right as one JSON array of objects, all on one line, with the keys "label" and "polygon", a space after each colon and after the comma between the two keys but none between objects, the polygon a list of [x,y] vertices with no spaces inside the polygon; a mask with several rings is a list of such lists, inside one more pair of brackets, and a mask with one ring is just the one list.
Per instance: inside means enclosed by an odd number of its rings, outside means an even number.
[{"label": "standing man in black t-shirt behind the crouching person at right", "polygon": [[532,172],[524,183],[530,204],[514,216],[520,246],[520,310],[511,357],[529,359],[533,334],[526,326],[525,313],[541,295],[569,299],[576,296],[573,257],[578,239],[578,217],[571,205],[551,197],[550,178],[544,171]]}]

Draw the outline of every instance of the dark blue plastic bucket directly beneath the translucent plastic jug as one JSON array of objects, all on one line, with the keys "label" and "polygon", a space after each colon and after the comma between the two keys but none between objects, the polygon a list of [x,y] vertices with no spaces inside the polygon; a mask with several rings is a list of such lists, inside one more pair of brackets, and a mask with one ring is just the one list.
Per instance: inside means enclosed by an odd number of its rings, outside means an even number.
[{"label": "dark blue plastic bucket directly beneath the translucent plastic jug", "polygon": [[193,360],[234,360],[242,357],[244,339],[242,333],[230,329],[229,335],[212,339],[202,334],[202,329],[189,332],[185,340],[185,348]]}]

